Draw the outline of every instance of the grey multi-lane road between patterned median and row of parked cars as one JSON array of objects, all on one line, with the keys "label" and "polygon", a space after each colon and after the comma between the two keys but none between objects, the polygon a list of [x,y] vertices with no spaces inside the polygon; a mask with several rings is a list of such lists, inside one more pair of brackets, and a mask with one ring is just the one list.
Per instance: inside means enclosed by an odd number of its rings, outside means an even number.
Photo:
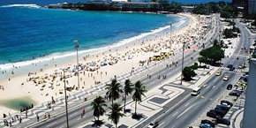
[{"label": "grey multi-lane road between patterned median and row of parked cars", "polygon": [[[251,41],[248,40],[248,36],[251,36],[245,28],[237,22],[237,26],[241,30],[241,40],[237,46],[237,49],[234,53],[238,55],[247,55],[244,50],[241,50],[241,46],[249,48]],[[239,57],[237,60],[236,57],[225,58],[222,60],[223,66],[228,64],[233,64],[237,67],[240,64],[244,64],[247,58]],[[223,81],[222,78],[224,74],[230,76],[228,81]],[[205,111],[207,107],[211,105],[212,101],[215,101],[219,97],[226,86],[230,81],[237,80],[240,77],[239,72],[230,72],[222,71],[222,75],[217,77],[213,75],[210,79],[207,80],[206,87],[202,87],[201,93],[196,96],[190,96],[187,94],[182,102],[179,102],[178,105],[174,108],[171,108],[168,112],[162,115],[162,117],[157,118],[155,121],[159,121],[160,127],[170,127],[170,128],[185,128],[188,127],[194,120],[196,120],[201,113]]]}]

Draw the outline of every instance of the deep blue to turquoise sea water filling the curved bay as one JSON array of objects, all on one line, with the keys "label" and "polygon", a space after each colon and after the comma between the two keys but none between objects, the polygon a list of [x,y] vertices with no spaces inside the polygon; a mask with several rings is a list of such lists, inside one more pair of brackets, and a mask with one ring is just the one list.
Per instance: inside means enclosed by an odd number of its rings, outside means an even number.
[{"label": "deep blue to turquoise sea water filling the curved bay", "polygon": [[145,13],[0,7],[0,64],[108,46],[180,18]]}]

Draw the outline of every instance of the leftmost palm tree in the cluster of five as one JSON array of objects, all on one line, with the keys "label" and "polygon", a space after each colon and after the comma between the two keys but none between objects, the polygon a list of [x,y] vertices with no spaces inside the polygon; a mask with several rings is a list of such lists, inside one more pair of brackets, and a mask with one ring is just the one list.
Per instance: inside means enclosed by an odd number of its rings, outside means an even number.
[{"label": "leftmost palm tree in the cluster of five", "polygon": [[100,117],[103,116],[103,114],[106,112],[105,109],[103,109],[103,107],[107,107],[107,104],[105,103],[102,96],[97,96],[94,99],[94,102],[92,102],[92,106],[94,109],[94,117],[97,117],[99,121]]}]

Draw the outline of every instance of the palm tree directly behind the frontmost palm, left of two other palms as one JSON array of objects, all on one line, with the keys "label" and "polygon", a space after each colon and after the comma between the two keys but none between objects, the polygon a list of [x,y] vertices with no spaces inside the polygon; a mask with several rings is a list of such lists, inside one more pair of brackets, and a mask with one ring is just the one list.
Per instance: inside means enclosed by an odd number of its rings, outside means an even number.
[{"label": "palm tree directly behind the frontmost palm, left of two other palms", "polygon": [[121,84],[117,82],[117,79],[112,79],[110,84],[106,85],[107,97],[112,100],[112,106],[115,100],[120,97],[120,93],[123,93]]}]

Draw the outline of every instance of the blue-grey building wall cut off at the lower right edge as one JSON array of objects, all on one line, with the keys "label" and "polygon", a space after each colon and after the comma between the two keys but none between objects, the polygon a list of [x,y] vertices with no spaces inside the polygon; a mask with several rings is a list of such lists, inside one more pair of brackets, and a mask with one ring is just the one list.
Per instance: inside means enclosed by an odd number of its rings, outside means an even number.
[{"label": "blue-grey building wall cut off at the lower right edge", "polygon": [[256,58],[250,60],[248,86],[245,94],[245,112],[242,128],[255,127],[256,119]]}]

